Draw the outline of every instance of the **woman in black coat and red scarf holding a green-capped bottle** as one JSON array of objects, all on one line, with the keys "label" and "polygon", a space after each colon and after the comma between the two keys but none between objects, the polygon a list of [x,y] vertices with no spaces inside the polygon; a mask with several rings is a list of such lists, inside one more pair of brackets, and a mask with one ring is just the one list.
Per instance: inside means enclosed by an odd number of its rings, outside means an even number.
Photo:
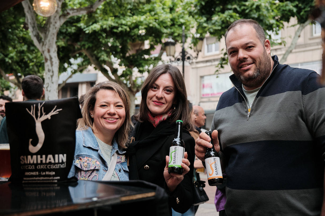
[{"label": "woman in black coat and red scarf holding a green-capped bottle", "polygon": [[[184,213],[193,199],[195,141],[188,132],[193,130],[193,125],[182,74],[170,64],[153,68],[142,85],[141,97],[139,113],[132,118],[135,130],[127,151],[129,178],[165,188],[170,208]],[[176,120],[183,121],[182,175],[168,173],[169,148],[175,136]]]}]

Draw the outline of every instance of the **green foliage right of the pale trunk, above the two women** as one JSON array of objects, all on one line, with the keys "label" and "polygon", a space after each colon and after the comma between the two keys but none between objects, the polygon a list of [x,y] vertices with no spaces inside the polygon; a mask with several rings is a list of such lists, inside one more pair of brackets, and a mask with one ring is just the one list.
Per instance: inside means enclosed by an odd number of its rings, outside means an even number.
[{"label": "green foliage right of the pale trunk, above the two women", "polygon": [[[79,66],[95,65],[121,84],[132,100],[140,90],[141,74],[161,60],[163,49],[155,56],[151,51],[170,35],[180,41],[182,25],[187,32],[194,27],[182,4],[180,0],[105,1],[94,13],[71,17],[58,33],[60,62],[82,58]],[[63,7],[69,7],[67,1]]]}]

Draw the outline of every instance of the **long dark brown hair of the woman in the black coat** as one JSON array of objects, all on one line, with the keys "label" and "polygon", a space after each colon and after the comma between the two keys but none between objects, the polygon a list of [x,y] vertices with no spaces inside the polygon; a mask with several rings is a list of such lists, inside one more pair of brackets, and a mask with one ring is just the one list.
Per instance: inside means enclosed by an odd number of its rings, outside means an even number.
[{"label": "long dark brown hair of the woman in the black coat", "polygon": [[135,119],[139,122],[148,121],[149,108],[147,106],[147,94],[151,85],[162,74],[170,74],[173,78],[176,91],[175,91],[175,109],[172,110],[171,115],[166,119],[171,123],[175,123],[176,120],[183,121],[183,129],[187,131],[193,131],[194,126],[190,121],[190,111],[188,108],[187,93],[185,88],[185,82],[183,75],[179,69],[171,64],[161,64],[154,67],[141,88],[141,102],[139,107],[139,113],[135,115]]}]

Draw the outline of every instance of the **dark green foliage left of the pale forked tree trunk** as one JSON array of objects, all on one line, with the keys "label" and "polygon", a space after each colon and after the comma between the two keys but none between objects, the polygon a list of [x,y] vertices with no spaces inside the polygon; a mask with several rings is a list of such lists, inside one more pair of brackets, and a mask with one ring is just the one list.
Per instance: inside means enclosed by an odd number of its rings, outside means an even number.
[{"label": "dark green foliage left of the pale forked tree trunk", "polygon": [[[0,13],[0,38],[2,89],[8,90],[7,82],[21,88],[21,76],[36,74],[43,77],[44,59],[30,37],[21,4]],[[7,74],[16,78],[11,80]]]}]

